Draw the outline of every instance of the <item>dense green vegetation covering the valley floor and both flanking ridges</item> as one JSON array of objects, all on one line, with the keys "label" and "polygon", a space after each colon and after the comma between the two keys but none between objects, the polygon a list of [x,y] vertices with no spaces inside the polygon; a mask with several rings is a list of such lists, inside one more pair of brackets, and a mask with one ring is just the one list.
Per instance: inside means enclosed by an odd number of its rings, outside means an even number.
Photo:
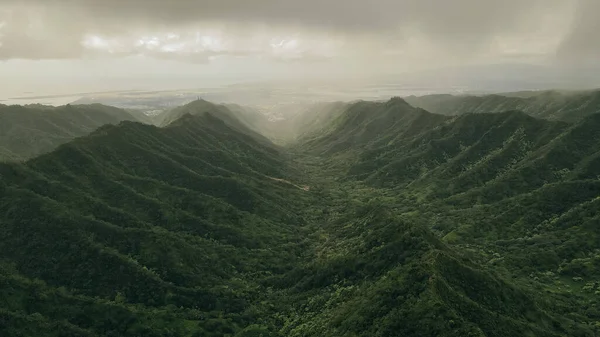
[{"label": "dense green vegetation covering the valley floor and both flanking ridges", "polygon": [[600,115],[316,109],[287,148],[196,101],[2,164],[0,334],[600,332]]}]

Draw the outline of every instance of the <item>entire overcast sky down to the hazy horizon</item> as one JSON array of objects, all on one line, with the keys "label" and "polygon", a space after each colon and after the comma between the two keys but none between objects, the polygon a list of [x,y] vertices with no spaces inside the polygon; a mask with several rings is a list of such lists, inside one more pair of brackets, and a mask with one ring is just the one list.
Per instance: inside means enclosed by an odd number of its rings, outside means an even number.
[{"label": "entire overcast sky down to the hazy horizon", "polygon": [[600,69],[599,13],[599,0],[0,0],[0,99],[514,64],[577,81]]}]

